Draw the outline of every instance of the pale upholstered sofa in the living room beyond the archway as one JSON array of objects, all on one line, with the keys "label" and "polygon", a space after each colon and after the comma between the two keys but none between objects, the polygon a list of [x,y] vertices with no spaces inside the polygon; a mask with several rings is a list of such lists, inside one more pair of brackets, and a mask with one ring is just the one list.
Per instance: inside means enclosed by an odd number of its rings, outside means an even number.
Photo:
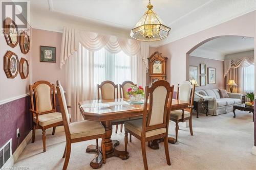
[{"label": "pale upholstered sofa in the living room beyond the archway", "polygon": [[208,114],[220,115],[233,111],[234,105],[240,105],[242,102],[242,94],[229,93],[229,98],[221,98],[219,89],[205,89],[195,91],[195,100],[200,98],[208,101]]}]

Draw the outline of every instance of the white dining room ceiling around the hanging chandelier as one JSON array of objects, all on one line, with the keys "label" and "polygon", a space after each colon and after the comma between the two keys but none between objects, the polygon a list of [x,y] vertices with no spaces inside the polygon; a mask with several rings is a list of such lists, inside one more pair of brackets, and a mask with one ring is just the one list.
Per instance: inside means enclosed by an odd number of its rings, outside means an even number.
[{"label": "white dining room ceiling around the hanging chandelier", "polygon": [[[152,0],[151,3],[172,28],[168,38],[151,43],[155,47],[256,10],[254,0]],[[77,26],[129,37],[147,4],[147,0],[31,1],[31,25],[60,32],[63,26]]]}]

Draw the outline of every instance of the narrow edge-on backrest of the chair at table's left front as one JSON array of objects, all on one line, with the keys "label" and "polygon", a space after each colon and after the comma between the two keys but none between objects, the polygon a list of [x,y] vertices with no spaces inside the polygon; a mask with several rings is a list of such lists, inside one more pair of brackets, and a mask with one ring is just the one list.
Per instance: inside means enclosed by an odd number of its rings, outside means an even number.
[{"label": "narrow edge-on backrest of the chair at table's left front", "polygon": [[63,90],[63,87],[61,86],[60,82],[57,80],[57,96],[59,100],[60,105],[60,111],[63,119],[63,125],[65,128],[66,135],[70,134],[69,131],[69,124],[70,124],[70,118],[69,118],[69,110],[65,98],[65,92]]}]

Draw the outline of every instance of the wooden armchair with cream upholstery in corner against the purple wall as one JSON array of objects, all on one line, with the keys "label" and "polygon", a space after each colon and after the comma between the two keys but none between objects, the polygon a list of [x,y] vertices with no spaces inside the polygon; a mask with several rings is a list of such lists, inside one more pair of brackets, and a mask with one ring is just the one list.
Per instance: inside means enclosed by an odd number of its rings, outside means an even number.
[{"label": "wooden armchair with cream upholstery in corner against the purple wall", "polygon": [[56,126],[62,126],[61,113],[56,112],[55,86],[48,81],[37,81],[29,85],[33,133],[32,143],[35,142],[35,130],[42,130],[43,151],[46,152],[46,129],[53,128],[52,135],[55,133]]}]

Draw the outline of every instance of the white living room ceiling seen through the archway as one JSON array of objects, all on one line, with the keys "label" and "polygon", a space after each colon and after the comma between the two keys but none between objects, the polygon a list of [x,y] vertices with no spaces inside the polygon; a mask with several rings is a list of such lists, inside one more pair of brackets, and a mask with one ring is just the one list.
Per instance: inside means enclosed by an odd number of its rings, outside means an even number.
[{"label": "white living room ceiling seen through the archway", "polygon": [[254,39],[241,36],[225,36],[208,41],[190,56],[224,60],[225,55],[254,49]]}]

